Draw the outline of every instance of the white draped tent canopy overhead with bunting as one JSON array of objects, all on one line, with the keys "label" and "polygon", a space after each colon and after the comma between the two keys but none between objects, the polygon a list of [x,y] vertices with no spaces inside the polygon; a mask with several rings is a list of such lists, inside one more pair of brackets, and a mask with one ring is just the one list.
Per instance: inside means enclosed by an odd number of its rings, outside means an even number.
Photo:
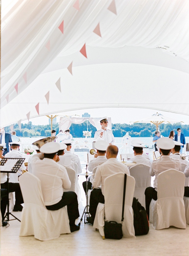
[{"label": "white draped tent canopy overhead with bunting", "polygon": [[7,2],[1,127],[87,108],[189,115],[188,0]]}]

